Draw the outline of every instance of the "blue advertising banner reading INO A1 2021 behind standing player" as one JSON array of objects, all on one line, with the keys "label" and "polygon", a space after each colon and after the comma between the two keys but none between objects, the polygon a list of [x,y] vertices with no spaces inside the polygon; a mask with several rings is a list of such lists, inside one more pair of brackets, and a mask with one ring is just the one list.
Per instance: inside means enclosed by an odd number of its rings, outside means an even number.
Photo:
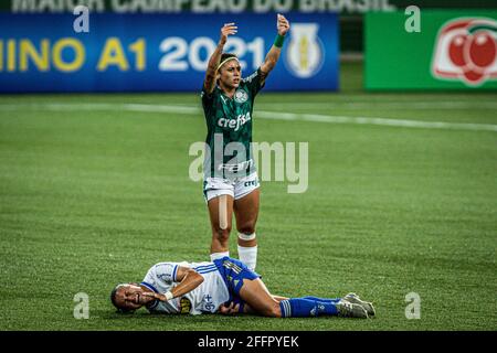
[{"label": "blue advertising banner reading INO A1 2021 behind standing player", "polygon": [[[287,13],[290,33],[265,90],[338,89],[338,18]],[[235,22],[225,52],[243,77],[264,61],[276,14],[0,14],[0,93],[198,92],[220,29]]]}]

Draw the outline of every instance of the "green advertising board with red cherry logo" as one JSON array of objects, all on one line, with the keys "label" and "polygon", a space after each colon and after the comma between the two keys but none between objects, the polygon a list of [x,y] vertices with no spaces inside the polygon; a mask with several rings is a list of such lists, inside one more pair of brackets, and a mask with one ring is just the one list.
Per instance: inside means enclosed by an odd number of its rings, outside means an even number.
[{"label": "green advertising board with red cherry logo", "polygon": [[364,57],[367,89],[496,89],[497,11],[368,13]]}]

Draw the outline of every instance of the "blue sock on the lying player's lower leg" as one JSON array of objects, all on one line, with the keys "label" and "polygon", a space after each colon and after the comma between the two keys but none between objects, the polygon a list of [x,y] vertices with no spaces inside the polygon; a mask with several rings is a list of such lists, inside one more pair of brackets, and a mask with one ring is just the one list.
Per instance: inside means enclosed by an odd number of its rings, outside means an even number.
[{"label": "blue sock on the lying player's lower leg", "polygon": [[317,315],[336,315],[335,303],[305,298],[290,298],[279,302],[282,318],[309,318]]}]

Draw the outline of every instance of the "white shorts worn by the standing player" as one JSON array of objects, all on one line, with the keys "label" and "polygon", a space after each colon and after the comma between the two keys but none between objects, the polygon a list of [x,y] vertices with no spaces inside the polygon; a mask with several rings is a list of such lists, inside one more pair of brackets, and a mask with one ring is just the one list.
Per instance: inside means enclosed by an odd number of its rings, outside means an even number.
[{"label": "white shorts worn by the standing player", "polygon": [[231,195],[234,200],[248,195],[260,185],[257,172],[250,175],[235,178],[207,178],[203,181],[203,196],[205,202],[220,195]]}]

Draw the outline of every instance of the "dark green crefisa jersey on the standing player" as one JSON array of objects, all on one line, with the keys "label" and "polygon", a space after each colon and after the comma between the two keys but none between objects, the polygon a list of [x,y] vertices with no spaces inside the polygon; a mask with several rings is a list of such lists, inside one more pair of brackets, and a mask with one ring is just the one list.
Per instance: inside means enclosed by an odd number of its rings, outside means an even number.
[{"label": "dark green crefisa jersey on the standing player", "polygon": [[252,152],[254,99],[263,88],[261,68],[243,78],[233,98],[216,86],[211,94],[202,87],[201,98],[208,127],[204,176],[232,179],[255,171]]}]

